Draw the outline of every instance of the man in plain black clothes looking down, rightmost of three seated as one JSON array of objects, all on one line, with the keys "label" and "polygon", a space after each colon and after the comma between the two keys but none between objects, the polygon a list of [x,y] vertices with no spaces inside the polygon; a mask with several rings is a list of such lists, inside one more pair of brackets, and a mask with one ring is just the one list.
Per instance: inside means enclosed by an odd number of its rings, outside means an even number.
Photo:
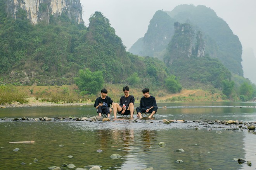
[{"label": "man in plain black clothes looking down, rightmost of three seated", "polygon": [[152,117],[158,107],[156,105],[156,98],[152,95],[149,95],[149,88],[144,88],[142,90],[143,97],[140,99],[140,107],[136,108],[137,116],[142,118],[141,113],[149,112],[151,113],[149,118]]}]

